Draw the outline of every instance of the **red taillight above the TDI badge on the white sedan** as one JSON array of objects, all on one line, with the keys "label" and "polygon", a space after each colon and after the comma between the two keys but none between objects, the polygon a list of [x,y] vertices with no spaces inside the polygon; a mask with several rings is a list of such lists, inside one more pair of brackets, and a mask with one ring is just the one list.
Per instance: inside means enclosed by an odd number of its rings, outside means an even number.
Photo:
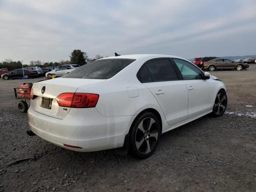
[{"label": "red taillight above the TDI badge on the white sedan", "polygon": [[92,108],[99,99],[98,94],[93,93],[62,93],[56,100],[61,107]]}]

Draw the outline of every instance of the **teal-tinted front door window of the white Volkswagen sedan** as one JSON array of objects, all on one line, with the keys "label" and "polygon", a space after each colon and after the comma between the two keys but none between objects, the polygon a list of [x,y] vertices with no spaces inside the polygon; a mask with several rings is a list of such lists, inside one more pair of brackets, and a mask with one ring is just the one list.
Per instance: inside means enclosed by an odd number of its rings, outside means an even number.
[{"label": "teal-tinted front door window of the white Volkswagen sedan", "polygon": [[203,78],[203,75],[200,69],[198,69],[193,64],[180,59],[174,58],[173,60],[178,66],[184,80],[196,80],[196,79]]}]

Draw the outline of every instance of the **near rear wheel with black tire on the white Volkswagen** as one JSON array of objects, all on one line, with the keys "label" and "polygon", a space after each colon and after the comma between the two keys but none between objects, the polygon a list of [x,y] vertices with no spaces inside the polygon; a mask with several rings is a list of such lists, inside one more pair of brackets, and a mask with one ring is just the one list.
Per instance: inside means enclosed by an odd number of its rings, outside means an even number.
[{"label": "near rear wheel with black tire on the white Volkswagen", "polygon": [[154,153],[160,140],[160,122],[153,113],[144,112],[133,122],[129,134],[130,152],[136,158],[148,158]]}]

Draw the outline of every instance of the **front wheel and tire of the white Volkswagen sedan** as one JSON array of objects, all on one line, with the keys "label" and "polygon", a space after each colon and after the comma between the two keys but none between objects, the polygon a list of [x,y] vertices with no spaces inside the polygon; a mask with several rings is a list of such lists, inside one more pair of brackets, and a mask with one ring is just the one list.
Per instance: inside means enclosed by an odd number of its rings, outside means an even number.
[{"label": "front wheel and tire of the white Volkswagen sedan", "polygon": [[224,90],[220,90],[216,95],[214,105],[212,108],[212,112],[210,116],[212,117],[220,117],[224,114],[226,108],[228,106],[228,97]]}]

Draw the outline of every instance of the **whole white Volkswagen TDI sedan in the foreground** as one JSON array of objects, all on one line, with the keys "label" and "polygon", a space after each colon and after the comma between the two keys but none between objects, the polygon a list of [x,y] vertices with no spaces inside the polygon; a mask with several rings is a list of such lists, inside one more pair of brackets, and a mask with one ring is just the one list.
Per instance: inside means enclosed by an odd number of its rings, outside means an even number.
[{"label": "whole white Volkswagen TDI sedan in the foreground", "polygon": [[80,152],[130,149],[147,158],[160,135],[227,107],[221,80],[186,59],[108,57],[33,84],[28,134]]}]

